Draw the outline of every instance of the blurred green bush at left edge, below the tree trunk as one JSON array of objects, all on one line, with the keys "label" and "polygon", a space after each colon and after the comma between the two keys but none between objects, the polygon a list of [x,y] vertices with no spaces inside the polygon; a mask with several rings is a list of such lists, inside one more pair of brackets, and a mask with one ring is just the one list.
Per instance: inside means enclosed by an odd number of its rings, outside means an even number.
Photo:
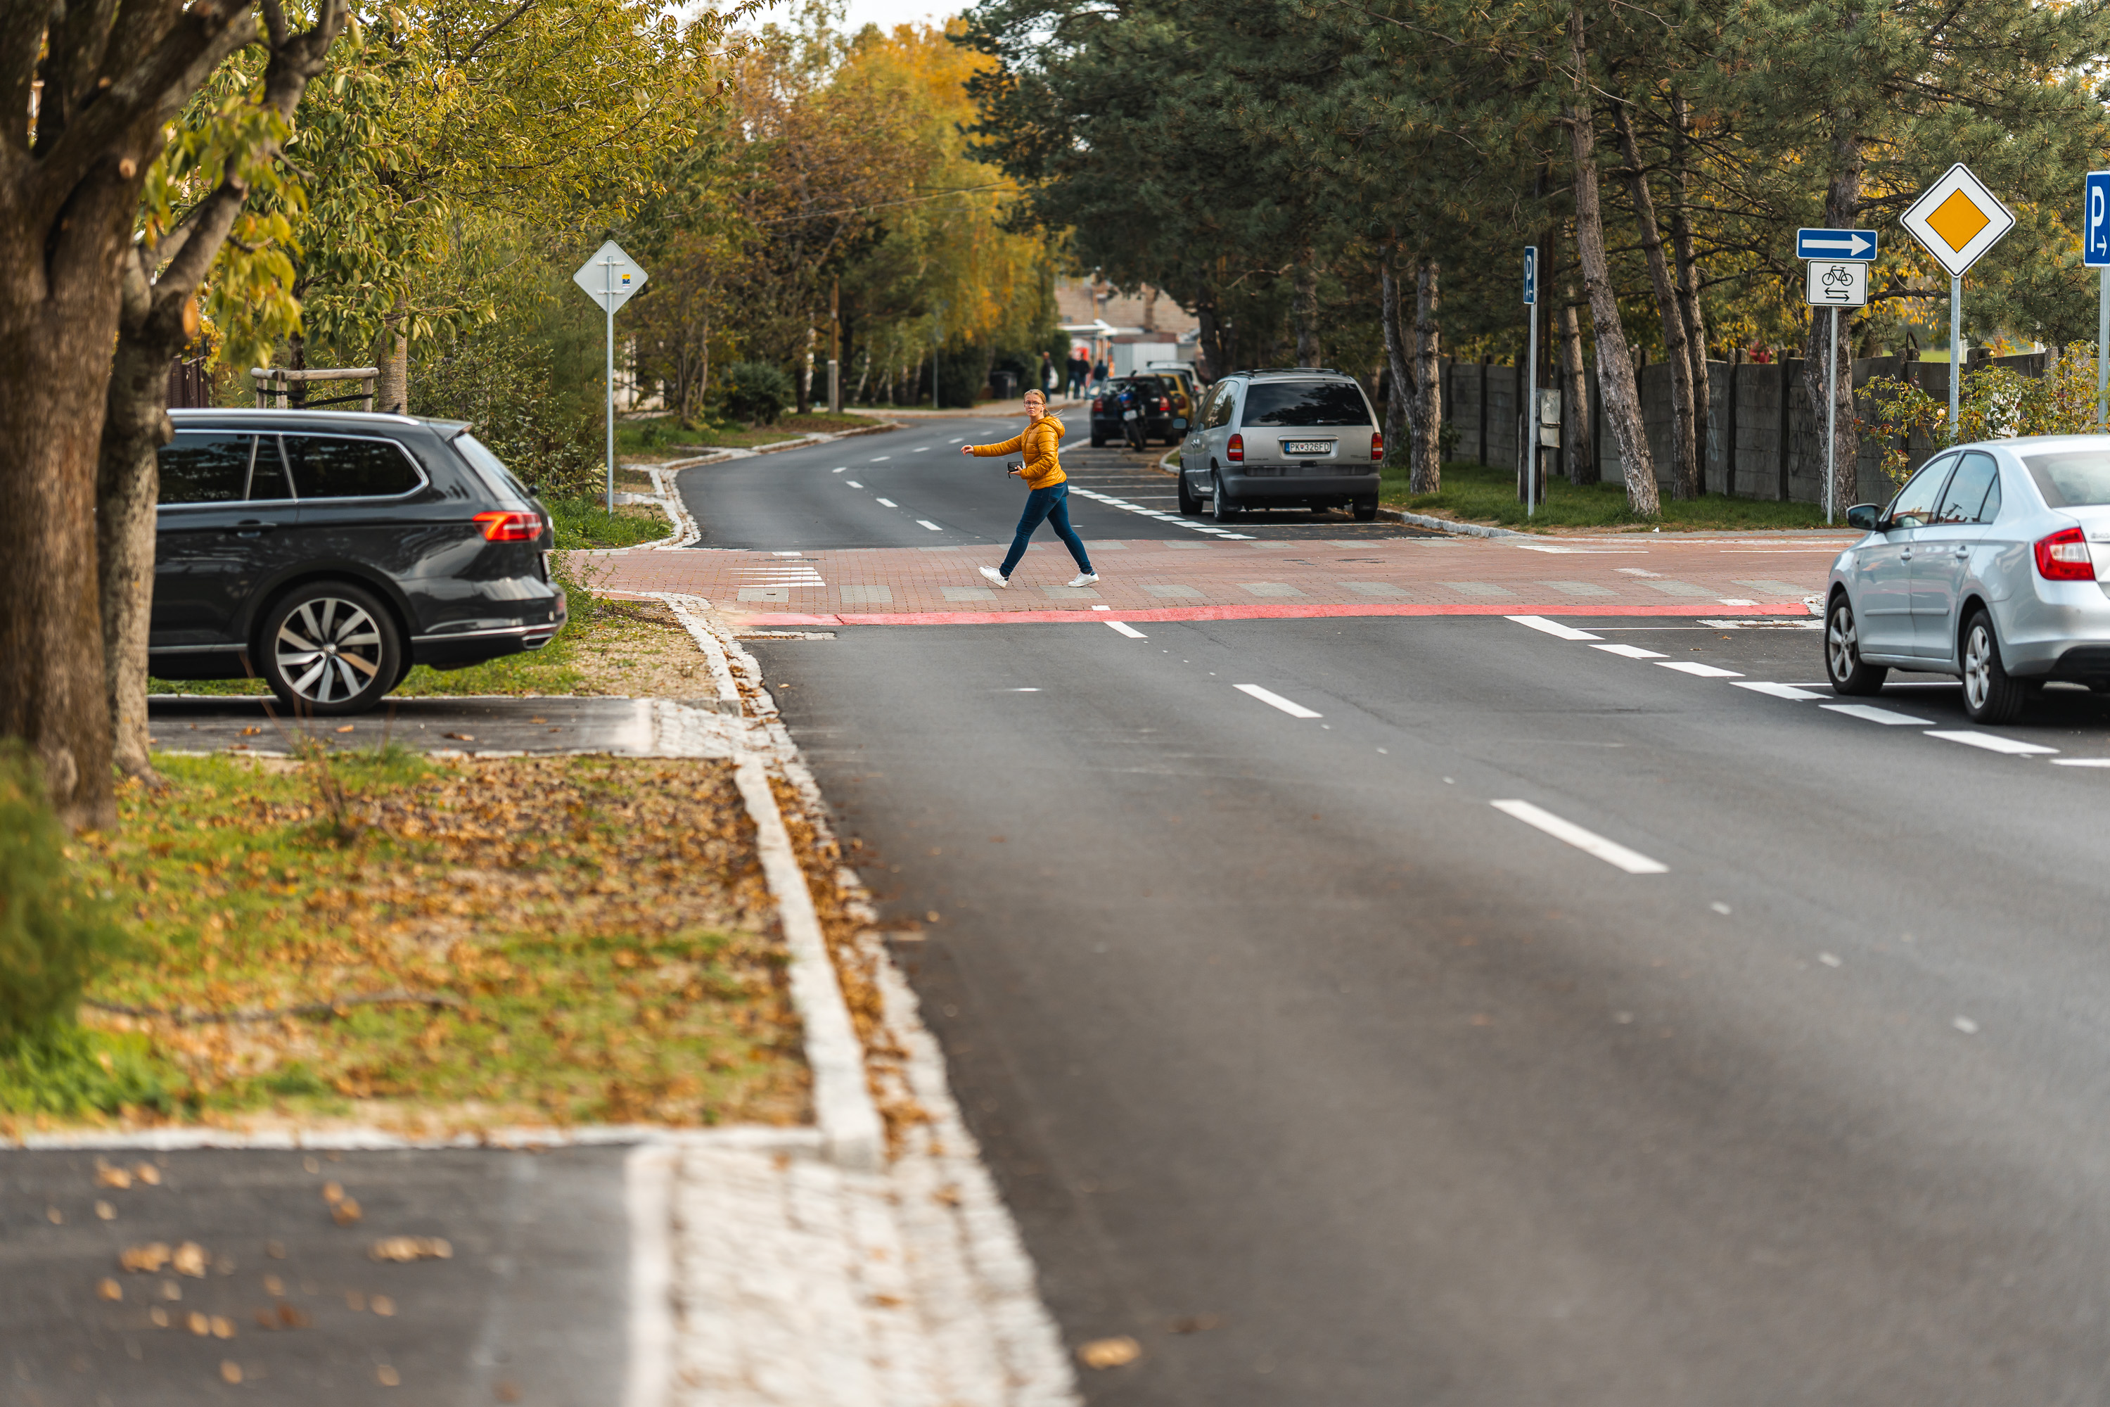
[{"label": "blurred green bush at left edge, below the tree trunk", "polygon": [[122,939],[74,873],[36,766],[0,755],[0,1042],[72,1025],[80,989]]}]

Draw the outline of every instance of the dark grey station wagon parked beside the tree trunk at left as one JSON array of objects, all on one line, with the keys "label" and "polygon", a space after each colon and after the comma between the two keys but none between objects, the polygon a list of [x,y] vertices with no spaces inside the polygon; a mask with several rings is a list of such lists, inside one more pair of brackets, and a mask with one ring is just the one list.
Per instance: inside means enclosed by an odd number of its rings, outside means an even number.
[{"label": "dark grey station wagon parked beside the tree trunk at left", "polygon": [[411,664],[540,650],[565,620],[549,513],[449,420],[169,411],[150,671],[262,677],[361,713]]}]

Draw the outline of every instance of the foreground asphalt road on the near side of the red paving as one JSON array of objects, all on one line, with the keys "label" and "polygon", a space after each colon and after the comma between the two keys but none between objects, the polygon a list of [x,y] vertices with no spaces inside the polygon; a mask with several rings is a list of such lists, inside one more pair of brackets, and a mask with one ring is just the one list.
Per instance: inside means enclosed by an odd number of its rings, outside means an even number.
[{"label": "foreground asphalt road on the near side of the red paving", "polygon": [[1568,624],[751,645],[1089,1399],[2104,1401],[2110,707]]}]

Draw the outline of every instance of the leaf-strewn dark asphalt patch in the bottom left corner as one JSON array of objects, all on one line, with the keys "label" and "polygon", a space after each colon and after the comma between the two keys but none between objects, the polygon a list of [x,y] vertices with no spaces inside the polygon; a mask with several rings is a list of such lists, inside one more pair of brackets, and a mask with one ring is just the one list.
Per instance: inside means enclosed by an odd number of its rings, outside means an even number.
[{"label": "leaf-strewn dark asphalt patch in the bottom left corner", "polygon": [[612,1407],[625,1154],[0,1150],[0,1403]]}]

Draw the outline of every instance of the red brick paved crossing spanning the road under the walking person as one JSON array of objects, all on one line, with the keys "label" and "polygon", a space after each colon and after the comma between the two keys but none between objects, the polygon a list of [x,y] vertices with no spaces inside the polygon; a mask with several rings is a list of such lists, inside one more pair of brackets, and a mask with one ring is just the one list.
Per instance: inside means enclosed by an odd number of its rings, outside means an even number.
[{"label": "red brick paved crossing spanning the road under the walking person", "polygon": [[1009,591],[1000,548],[603,553],[610,591],[682,591],[741,624],[971,624],[1270,616],[1724,616],[1804,610],[1855,534],[1610,538],[1123,538],[1089,542],[1099,584],[1066,591],[1059,544],[1034,544]]}]

